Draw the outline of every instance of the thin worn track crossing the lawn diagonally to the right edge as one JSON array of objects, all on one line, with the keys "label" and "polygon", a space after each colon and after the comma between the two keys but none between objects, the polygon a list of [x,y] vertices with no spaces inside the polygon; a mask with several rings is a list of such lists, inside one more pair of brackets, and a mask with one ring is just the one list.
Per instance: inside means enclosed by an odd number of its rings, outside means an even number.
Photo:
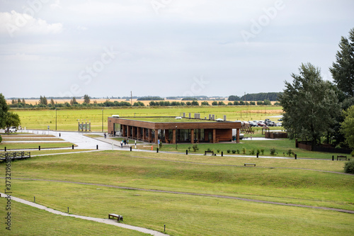
[{"label": "thin worn track crossing the lawn diagonally to the right edge", "polygon": [[[4,178],[1,178],[1,179],[4,179]],[[84,182],[52,180],[52,179],[28,179],[28,178],[12,178],[12,179],[21,179],[21,180],[30,180],[30,181],[50,181],[50,182],[59,182],[59,183],[68,183],[68,184],[83,184],[83,185],[103,186],[103,187],[115,188],[115,189],[150,191],[150,192],[157,192],[157,193],[183,194],[183,195],[191,195],[191,196],[206,196],[206,197],[212,197],[212,198],[228,198],[228,199],[234,199],[234,200],[239,200],[239,201],[250,201],[253,203],[266,203],[266,204],[273,204],[273,205],[280,205],[280,206],[296,206],[296,207],[301,207],[301,208],[333,210],[333,211],[342,212],[342,213],[354,214],[354,210],[345,210],[345,209],[339,209],[339,208],[326,208],[326,207],[320,207],[320,206],[307,206],[307,205],[292,204],[292,203],[279,203],[279,202],[275,202],[275,201],[261,201],[261,200],[250,199],[250,198],[238,198],[238,197],[234,197],[234,196],[224,196],[224,195],[217,195],[217,194],[188,193],[188,192],[166,191],[166,190],[156,190],[156,189],[139,189],[139,188],[130,188],[130,187],[123,187],[123,186],[107,185],[107,184],[91,184],[91,183],[84,183]]]}]

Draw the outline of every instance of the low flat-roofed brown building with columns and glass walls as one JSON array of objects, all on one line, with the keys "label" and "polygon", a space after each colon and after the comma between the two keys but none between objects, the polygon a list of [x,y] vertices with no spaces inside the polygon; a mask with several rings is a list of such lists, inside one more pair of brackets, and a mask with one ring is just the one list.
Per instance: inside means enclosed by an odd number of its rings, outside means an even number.
[{"label": "low flat-roofed brown building with columns and glass walls", "polygon": [[157,143],[227,142],[236,129],[239,142],[241,123],[224,120],[176,117],[108,117],[108,133],[133,140]]}]

